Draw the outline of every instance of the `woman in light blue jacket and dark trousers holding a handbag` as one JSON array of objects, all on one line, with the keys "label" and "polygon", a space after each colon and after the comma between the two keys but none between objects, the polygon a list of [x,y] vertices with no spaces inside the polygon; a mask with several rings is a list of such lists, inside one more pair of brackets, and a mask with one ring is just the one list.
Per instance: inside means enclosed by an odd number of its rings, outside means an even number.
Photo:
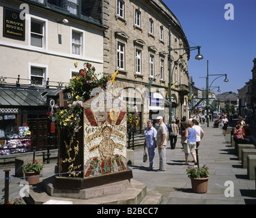
[{"label": "woman in light blue jacket and dark trousers holding a handbag", "polygon": [[149,170],[153,170],[154,157],[156,154],[156,129],[153,127],[151,120],[147,121],[147,129],[145,130],[144,148],[147,146],[147,153],[150,161]]}]

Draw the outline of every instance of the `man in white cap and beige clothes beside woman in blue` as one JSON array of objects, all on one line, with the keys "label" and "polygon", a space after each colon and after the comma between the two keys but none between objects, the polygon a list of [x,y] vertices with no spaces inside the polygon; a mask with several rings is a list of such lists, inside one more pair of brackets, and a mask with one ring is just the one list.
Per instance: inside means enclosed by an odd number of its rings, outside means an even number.
[{"label": "man in white cap and beige clothes beside woman in blue", "polygon": [[156,122],[158,123],[158,131],[156,134],[156,145],[158,147],[158,154],[159,154],[159,170],[158,172],[165,172],[166,171],[166,145],[167,145],[167,127],[162,120],[162,116],[158,116],[156,118]]}]

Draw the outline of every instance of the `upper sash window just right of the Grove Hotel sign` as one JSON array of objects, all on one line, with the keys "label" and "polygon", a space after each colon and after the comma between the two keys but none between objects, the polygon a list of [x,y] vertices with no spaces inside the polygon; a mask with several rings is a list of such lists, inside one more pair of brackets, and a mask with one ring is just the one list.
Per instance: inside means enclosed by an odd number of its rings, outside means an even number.
[{"label": "upper sash window just right of the Grove Hotel sign", "polygon": [[30,42],[31,46],[44,48],[44,22],[31,19]]}]

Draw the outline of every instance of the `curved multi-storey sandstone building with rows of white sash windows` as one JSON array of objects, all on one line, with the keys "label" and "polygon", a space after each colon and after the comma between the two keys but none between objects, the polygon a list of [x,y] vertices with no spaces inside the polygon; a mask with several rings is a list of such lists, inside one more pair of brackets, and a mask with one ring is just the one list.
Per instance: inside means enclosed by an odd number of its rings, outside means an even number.
[{"label": "curved multi-storey sandstone building with rows of white sash windows", "polygon": [[[169,109],[165,108],[164,102],[169,87],[169,24],[171,48],[189,46],[179,20],[159,0],[87,1],[83,10],[107,28],[104,31],[103,67],[109,74],[119,69],[113,84],[114,93],[121,94],[129,105],[136,104],[141,110],[140,127],[147,119],[156,119],[158,115],[164,116],[167,123]],[[180,55],[183,55],[181,59]],[[173,108],[174,117],[188,116],[189,57],[188,50],[171,52],[172,81],[175,82],[171,97],[178,104]],[[152,78],[155,80],[150,93],[144,95],[145,87]],[[149,108],[145,102],[150,104]]]}]

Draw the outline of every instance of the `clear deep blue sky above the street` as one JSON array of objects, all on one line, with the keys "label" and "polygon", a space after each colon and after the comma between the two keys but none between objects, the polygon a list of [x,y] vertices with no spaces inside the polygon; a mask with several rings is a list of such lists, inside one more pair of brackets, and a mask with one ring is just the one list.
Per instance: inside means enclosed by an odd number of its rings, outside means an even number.
[{"label": "clear deep blue sky above the street", "polygon": [[[180,21],[190,46],[201,46],[203,60],[195,60],[197,50],[190,52],[189,76],[195,87],[206,88],[207,61],[209,86],[220,87],[221,92],[244,87],[253,78],[253,59],[256,58],[256,1],[255,0],[163,0]],[[233,20],[231,7],[233,5]],[[204,78],[199,78],[204,77]],[[217,88],[211,88],[216,94]]]}]

